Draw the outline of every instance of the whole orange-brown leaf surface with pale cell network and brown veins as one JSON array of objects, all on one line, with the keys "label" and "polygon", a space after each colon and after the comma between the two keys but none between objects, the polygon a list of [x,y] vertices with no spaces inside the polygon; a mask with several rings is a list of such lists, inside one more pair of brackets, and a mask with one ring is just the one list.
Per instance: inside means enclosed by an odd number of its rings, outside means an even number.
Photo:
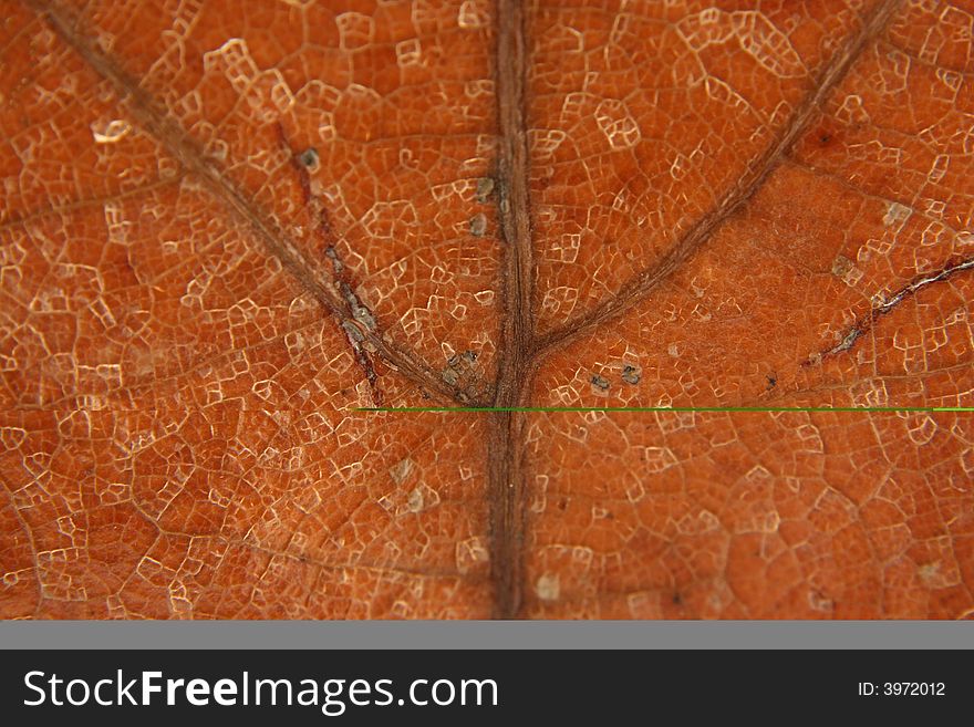
[{"label": "whole orange-brown leaf surface with pale cell network and brown veins", "polygon": [[971,0],[0,9],[0,616],[974,614]]}]

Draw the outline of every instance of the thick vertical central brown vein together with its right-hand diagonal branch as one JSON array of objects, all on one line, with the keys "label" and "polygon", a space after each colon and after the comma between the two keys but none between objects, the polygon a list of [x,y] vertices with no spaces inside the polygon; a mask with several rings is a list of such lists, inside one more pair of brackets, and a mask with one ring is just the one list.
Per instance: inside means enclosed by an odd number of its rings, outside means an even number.
[{"label": "thick vertical central brown vein together with its right-hand diagonal branch", "polygon": [[[767,181],[798,137],[808,128],[823,102],[846,77],[869,42],[887,27],[900,0],[882,0],[866,14],[862,27],[818,74],[805,98],[795,107],[783,131],[717,204],[707,210],[657,264],[636,276],[613,299],[560,330],[536,337],[530,283],[533,279],[528,217],[529,157],[526,144],[525,85],[527,74],[524,8],[517,0],[498,2],[497,101],[501,134],[500,220],[506,248],[504,325],[500,371],[494,405],[522,406],[530,393],[530,376],[538,362],[611,319],[631,310],[676,272],[714,232]],[[524,191],[521,191],[524,190]],[[494,413],[489,440],[489,497],[491,503],[491,568],[495,616],[518,615],[524,588],[527,485],[524,465],[524,414]]]}]

